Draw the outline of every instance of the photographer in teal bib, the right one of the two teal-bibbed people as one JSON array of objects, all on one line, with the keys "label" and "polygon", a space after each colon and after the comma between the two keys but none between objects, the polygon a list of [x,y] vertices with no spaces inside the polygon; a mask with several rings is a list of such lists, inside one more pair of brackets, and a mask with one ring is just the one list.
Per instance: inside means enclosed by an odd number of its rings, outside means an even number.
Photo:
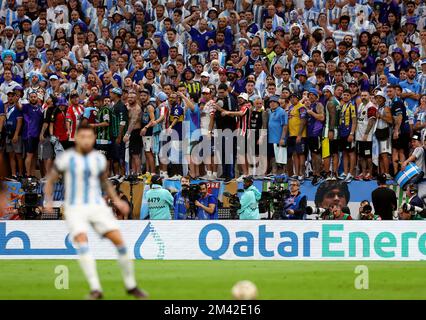
[{"label": "photographer in teal bib, the right one of the two teal-bibbed people", "polygon": [[253,177],[244,178],[244,193],[241,196],[240,220],[259,220],[259,200],[262,194],[253,185]]}]

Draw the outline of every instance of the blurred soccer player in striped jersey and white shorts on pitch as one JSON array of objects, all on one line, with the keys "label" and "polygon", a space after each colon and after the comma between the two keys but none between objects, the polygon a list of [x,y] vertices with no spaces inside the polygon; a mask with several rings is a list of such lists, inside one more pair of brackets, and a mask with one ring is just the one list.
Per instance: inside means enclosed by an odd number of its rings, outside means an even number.
[{"label": "blurred soccer player in striped jersey and white shorts on pitch", "polygon": [[116,246],[127,293],[143,299],[147,294],[136,285],[133,261],[127,255],[127,248],[112,209],[102,197],[102,189],[119,211],[127,213],[129,205],[117,196],[115,188],[108,181],[107,161],[104,155],[93,149],[95,141],[96,134],[93,128],[81,125],[77,129],[75,148],[67,150],[55,160],[48,177],[45,188],[46,209],[52,210],[53,184],[62,174],[65,183],[65,218],[70,235],[77,245],[80,266],[89,282],[91,291],[88,299],[103,297],[96,262],[88,246],[89,225]]}]

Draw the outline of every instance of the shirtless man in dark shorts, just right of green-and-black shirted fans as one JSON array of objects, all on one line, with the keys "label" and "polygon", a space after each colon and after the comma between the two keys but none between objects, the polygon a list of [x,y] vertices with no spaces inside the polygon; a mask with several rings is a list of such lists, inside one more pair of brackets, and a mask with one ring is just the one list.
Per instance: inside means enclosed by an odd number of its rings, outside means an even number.
[{"label": "shirtless man in dark shorts, just right of green-and-black shirted fans", "polygon": [[[142,98],[142,95],[141,95]],[[131,156],[131,172],[139,174],[141,172],[141,152],[142,138],[141,131],[141,115],[142,108],[136,101],[136,92],[131,91],[127,96],[127,110],[129,113],[129,126],[124,135],[123,142],[129,142],[129,153]]]}]

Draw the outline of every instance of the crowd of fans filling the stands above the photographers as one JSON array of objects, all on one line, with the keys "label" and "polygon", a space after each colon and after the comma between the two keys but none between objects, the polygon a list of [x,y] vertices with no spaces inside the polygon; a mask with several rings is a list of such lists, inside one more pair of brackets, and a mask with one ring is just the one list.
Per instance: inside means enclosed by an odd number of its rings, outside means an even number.
[{"label": "crowd of fans filling the stands above the photographers", "polygon": [[[12,179],[48,172],[84,121],[111,176],[127,162],[147,176],[286,174],[314,185],[391,179],[410,162],[424,171],[421,0],[0,4],[0,151]],[[217,138],[226,129],[255,141],[264,172],[235,138]],[[171,164],[164,132],[178,150]],[[199,163],[203,141],[213,144]]]}]

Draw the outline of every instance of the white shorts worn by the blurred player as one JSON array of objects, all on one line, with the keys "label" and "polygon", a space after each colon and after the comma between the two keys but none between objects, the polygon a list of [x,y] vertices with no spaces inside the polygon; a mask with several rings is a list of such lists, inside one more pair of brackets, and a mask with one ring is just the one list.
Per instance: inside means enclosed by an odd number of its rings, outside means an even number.
[{"label": "white shorts worn by the blurred player", "polygon": [[112,209],[106,204],[65,206],[64,216],[72,239],[87,233],[89,226],[99,235],[119,229]]}]

